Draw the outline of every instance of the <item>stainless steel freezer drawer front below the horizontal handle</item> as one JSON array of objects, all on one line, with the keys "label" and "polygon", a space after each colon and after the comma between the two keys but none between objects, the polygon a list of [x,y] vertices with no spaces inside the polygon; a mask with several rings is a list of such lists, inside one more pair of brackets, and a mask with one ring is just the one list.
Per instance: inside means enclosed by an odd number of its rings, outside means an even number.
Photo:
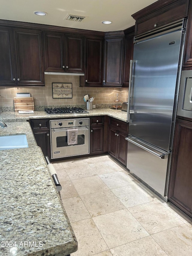
[{"label": "stainless steel freezer drawer front below the horizontal handle", "polygon": [[127,168],[162,197],[165,196],[168,158],[158,156],[128,141]]}]

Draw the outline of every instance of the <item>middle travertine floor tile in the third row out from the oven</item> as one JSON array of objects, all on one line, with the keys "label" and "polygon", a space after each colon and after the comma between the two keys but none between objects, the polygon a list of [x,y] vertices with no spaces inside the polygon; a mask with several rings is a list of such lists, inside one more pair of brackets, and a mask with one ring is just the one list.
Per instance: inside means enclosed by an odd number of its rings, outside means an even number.
[{"label": "middle travertine floor tile in the third row out from the oven", "polygon": [[72,182],[80,196],[109,189],[98,176],[73,179]]}]

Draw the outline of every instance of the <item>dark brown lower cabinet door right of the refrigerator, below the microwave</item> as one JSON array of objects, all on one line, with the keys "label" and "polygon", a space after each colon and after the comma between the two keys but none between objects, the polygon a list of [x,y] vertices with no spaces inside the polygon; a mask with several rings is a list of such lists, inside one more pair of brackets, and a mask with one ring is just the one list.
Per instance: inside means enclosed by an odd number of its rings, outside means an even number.
[{"label": "dark brown lower cabinet door right of the refrigerator, below the microwave", "polygon": [[177,119],[168,199],[192,217],[192,122]]}]

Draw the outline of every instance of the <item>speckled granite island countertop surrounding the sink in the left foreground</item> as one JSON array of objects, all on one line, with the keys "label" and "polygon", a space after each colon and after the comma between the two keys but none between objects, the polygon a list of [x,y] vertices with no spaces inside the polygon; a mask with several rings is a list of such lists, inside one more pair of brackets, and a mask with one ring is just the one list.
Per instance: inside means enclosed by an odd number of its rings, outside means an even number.
[{"label": "speckled granite island countertop surrounding the sink in the left foreground", "polygon": [[14,134],[26,134],[29,148],[0,151],[0,255],[70,254],[76,237],[29,123],[0,128]]}]

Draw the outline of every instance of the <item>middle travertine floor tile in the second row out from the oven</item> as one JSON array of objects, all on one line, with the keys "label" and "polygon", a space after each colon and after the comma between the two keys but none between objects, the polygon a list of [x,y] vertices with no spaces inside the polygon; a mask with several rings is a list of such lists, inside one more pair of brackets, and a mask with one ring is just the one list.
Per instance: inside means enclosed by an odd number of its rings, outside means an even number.
[{"label": "middle travertine floor tile in the second row out from the oven", "polygon": [[80,179],[97,175],[97,173],[95,173],[95,171],[88,164],[67,167],[64,168],[64,170],[66,171],[70,179]]}]

